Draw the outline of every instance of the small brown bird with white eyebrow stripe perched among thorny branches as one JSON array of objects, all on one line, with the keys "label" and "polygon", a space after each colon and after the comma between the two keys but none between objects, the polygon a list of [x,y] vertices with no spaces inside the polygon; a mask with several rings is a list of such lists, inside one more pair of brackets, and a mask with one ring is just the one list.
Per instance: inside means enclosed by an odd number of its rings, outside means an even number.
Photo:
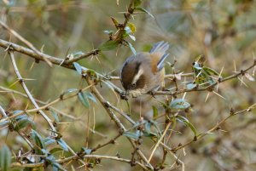
[{"label": "small brown bird with white eyebrow stripe perched among thorny branches", "polygon": [[164,83],[164,62],[169,55],[169,43],[154,43],[149,52],[139,52],[128,57],[120,71],[120,81],[125,96],[137,97],[153,93]]}]

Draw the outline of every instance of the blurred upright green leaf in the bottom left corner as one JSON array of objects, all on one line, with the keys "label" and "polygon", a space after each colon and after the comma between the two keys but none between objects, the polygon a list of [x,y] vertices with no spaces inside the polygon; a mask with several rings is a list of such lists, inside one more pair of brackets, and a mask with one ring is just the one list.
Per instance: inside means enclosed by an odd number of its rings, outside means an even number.
[{"label": "blurred upright green leaf in the bottom left corner", "polygon": [[11,152],[7,145],[3,145],[0,150],[0,168],[2,171],[8,171],[11,163]]}]

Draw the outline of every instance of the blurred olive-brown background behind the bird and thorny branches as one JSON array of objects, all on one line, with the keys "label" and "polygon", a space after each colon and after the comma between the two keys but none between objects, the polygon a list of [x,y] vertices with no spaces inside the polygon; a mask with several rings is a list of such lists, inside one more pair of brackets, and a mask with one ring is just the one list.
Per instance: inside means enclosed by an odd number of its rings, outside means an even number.
[{"label": "blurred olive-brown background behind the bird and thorny branches", "polygon": [[[19,32],[22,37],[31,42],[36,48],[42,49],[45,54],[65,59],[67,54],[79,51],[89,52],[108,40],[103,31],[113,30],[111,16],[123,22],[124,14],[130,1],[119,0],[1,0],[0,18],[7,22],[9,27]],[[137,31],[136,41],[127,38],[137,52],[147,51],[153,43],[166,41],[171,44],[167,59],[166,73],[192,72],[192,63],[196,57],[203,54],[206,66],[211,67],[222,75],[229,76],[253,64],[253,53],[256,49],[256,2],[253,0],[143,0],[142,7],[154,15],[154,19],[145,13],[134,14],[133,23]],[[0,27],[0,38],[12,43],[26,45],[11,36],[8,31]],[[131,55],[131,49],[125,46],[97,56],[80,60],[79,64],[102,74],[119,76],[119,70],[124,60]],[[34,60],[24,54],[15,53],[20,74],[25,78],[26,85],[33,96],[44,102],[57,99],[68,88],[84,88],[86,83],[76,71],[61,66],[49,67],[44,62],[34,63]],[[176,62],[175,62],[176,61]],[[174,68],[168,65],[173,64]],[[236,64],[236,65],[235,65]],[[253,70],[248,73],[255,78]],[[233,79],[218,86],[218,94],[208,92],[193,92],[186,94],[186,99],[193,105],[188,117],[199,133],[212,128],[224,117],[230,115],[230,109],[239,111],[253,105],[256,101],[256,83],[247,77]],[[20,96],[4,92],[3,88],[15,89],[23,92],[18,83],[9,55],[0,48],[0,104],[7,111],[23,110],[29,101]],[[184,82],[193,80],[183,77],[177,80],[181,88]],[[14,84],[15,83],[15,84]],[[119,81],[114,84],[121,88]],[[170,87],[174,87],[172,80],[166,80]],[[102,95],[113,105],[128,112],[124,100],[119,100],[108,86],[97,86]],[[1,91],[2,90],[2,91]],[[182,97],[181,94],[179,97]],[[207,99],[207,101],[206,101]],[[152,105],[156,106],[160,114],[164,109],[159,101],[164,97],[149,95],[135,100],[129,100],[131,118],[135,121],[140,115],[152,119]],[[205,102],[206,101],[206,102]],[[33,108],[28,105],[28,108]],[[91,131],[89,147],[107,142],[118,134],[115,125],[106,111],[99,104],[91,103],[90,109],[84,108],[78,99],[63,101],[55,105],[58,110],[67,113],[70,117],[60,117],[58,130],[63,134],[74,151],[79,151],[86,143],[87,123]],[[160,115],[159,114],[159,115]],[[50,115],[50,114],[49,114]],[[47,123],[42,117],[32,115],[41,134],[47,135]],[[53,118],[53,117],[52,117]],[[119,118],[128,126],[129,124]],[[253,171],[256,170],[256,111],[231,117],[215,134],[208,134],[187,147],[184,151],[177,151],[186,170],[209,171]],[[164,120],[158,120],[159,127],[164,126]],[[131,126],[131,125],[130,125]],[[95,129],[95,131],[93,131]],[[171,147],[183,144],[193,139],[193,132],[183,123],[177,123],[175,132],[169,142]],[[22,146],[29,149],[18,134],[9,132],[7,128],[0,128],[0,145],[6,143],[9,148],[17,152]],[[152,140],[143,138],[142,151],[148,157],[154,145]],[[96,154],[131,158],[132,147],[125,137],[120,137],[115,145],[108,145]],[[61,155],[57,153],[58,155]],[[69,154],[67,153],[66,156]],[[152,160],[154,164],[160,162],[162,151],[156,151]],[[167,155],[166,166],[175,162],[172,156]],[[79,166],[73,162],[67,168]],[[101,165],[93,170],[138,170],[129,164],[102,160]],[[79,170],[79,169],[78,169]],[[83,170],[81,168],[81,170]],[[166,169],[167,170],[167,169]],[[175,170],[180,170],[177,168]]]}]

